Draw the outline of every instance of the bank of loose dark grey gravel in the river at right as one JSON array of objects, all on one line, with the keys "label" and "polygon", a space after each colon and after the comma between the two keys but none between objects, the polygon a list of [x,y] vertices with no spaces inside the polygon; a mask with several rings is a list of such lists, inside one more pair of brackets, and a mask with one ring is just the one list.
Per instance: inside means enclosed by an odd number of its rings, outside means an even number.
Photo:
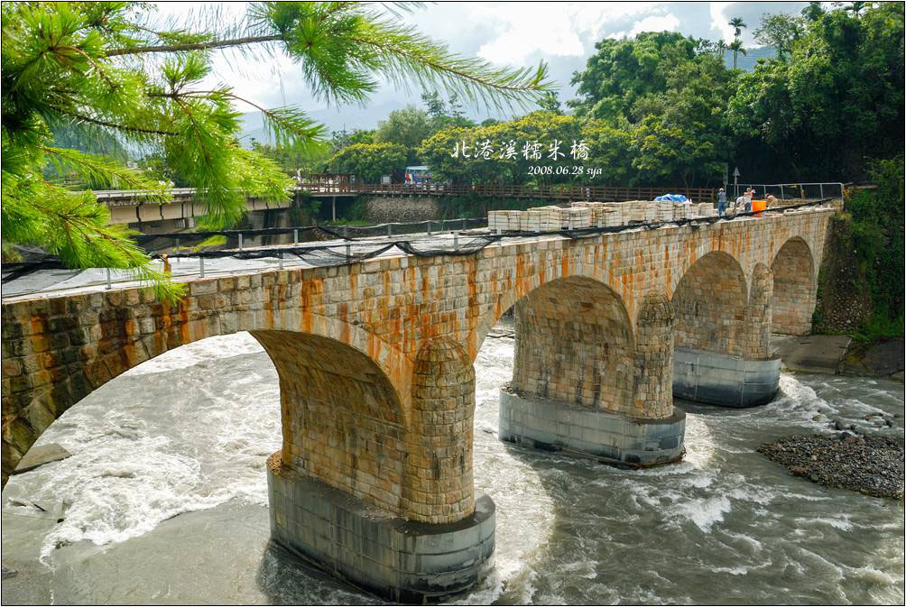
[{"label": "bank of loose dark grey gravel in the river at right", "polygon": [[898,438],[793,436],[759,447],[759,453],[824,487],[866,496],[903,498],[903,444]]}]

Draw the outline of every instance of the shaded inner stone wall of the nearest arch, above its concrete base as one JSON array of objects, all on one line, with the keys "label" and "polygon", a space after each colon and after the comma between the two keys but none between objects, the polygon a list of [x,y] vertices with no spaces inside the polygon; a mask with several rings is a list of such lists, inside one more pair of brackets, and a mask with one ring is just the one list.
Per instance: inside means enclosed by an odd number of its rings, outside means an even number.
[{"label": "shaded inner stone wall of the nearest arch, above its concrete base", "polygon": [[283,446],[272,465],[404,515],[406,415],[388,376],[367,354],[333,338],[283,330],[251,334],[280,381]]}]

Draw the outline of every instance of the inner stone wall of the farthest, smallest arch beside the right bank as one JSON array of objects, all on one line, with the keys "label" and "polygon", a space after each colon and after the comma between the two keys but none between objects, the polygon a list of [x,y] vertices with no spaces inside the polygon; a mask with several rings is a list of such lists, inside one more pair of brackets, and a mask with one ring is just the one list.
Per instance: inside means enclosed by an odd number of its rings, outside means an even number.
[{"label": "inner stone wall of the farthest, smallest arch beside the right bank", "polygon": [[771,274],[774,276],[773,331],[808,334],[812,331],[818,284],[812,248],[804,238],[794,236],[786,240],[771,262]]}]

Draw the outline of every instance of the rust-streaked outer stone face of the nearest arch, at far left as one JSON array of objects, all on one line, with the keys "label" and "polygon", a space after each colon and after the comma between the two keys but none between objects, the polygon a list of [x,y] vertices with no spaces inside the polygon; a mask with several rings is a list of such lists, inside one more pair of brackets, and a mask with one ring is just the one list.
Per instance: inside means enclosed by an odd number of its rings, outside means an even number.
[{"label": "rust-streaked outer stone face of the nearest arch, at far left", "polygon": [[261,341],[262,332],[286,332],[330,340],[371,361],[372,376],[386,379],[400,411],[407,409],[411,362],[400,352],[360,326],[300,310],[292,284],[242,289],[237,280],[193,283],[177,305],[157,301],[148,289],[5,305],[4,484],[43,430],[92,390],[163,352],[216,335],[248,331]]}]

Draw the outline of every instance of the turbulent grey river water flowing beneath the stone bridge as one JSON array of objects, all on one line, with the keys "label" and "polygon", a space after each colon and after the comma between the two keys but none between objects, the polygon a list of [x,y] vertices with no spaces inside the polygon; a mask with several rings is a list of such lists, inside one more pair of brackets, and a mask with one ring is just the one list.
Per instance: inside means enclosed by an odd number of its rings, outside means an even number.
[{"label": "turbulent grey river water flowing beneath the stone bridge", "polygon": [[[501,327],[506,330],[506,327]],[[497,506],[496,565],[462,603],[902,603],[902,502],[819,487],[755,452],[831,420],[901,416],[892,381],[781,376],[764,407],[687,410],[685,460],[618,470],[496,438],[512,337],[475,363],[475,482]],[[3,492],[9,602],[378,602],[267,546],[274,366],[247,333],[168,352],[44,432],[72,453]],[[65,502],[61,523],[29,517]],[[188,514],[187,514],[188,513]]]}]

